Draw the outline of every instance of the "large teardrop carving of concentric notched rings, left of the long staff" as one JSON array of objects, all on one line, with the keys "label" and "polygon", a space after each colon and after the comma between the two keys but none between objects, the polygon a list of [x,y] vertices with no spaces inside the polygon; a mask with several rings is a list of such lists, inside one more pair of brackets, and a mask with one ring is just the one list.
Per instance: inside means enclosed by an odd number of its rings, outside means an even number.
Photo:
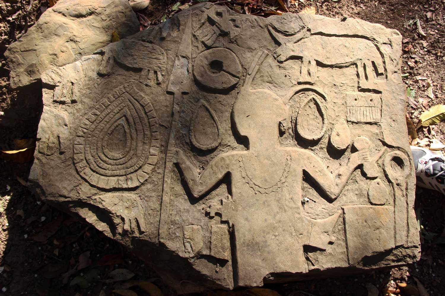
[{"label": "large teardrop carving of concentric notched rings, left of the long staff", "polygon": [[133,188],[148,178],[158,150],[152,104],[133,86],[125,86],[103,99],[79,126],[74,164],[91,185]]}]

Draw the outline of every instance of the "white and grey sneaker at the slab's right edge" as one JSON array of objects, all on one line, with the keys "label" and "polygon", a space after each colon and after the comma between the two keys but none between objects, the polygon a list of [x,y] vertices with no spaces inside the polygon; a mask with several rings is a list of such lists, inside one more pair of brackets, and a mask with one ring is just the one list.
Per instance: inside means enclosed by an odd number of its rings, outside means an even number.
[{"label": "white and grey sneaker at the slab's right edge", "polygon": [[437,190],[445,194],[445,161],[441,154],[411,146],[417,186]]}]

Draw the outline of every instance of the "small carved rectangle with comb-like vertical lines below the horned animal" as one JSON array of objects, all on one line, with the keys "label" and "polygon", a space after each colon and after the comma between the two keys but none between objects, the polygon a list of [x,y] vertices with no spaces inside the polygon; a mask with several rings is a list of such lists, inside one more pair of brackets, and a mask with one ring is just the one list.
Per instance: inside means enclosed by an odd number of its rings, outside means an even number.
[{"label": "small carved rectangle with comb-like vertical lines below the horned animal", "polygon": [[381,121],[382,100],[379,95],[347,93],[345,102],[348,122],[377,123]]}]

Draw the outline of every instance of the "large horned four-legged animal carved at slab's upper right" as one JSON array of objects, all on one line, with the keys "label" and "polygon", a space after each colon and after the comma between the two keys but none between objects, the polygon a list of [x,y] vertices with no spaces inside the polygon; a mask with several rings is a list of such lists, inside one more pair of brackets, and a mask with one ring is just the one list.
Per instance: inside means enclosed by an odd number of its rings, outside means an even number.
[{"label": "large horned four-legged animal carved at slab's upper right", "polygon": [[280,44],[274,52],[274,58],[279,63],[301,59],[301,81],[313,82],[317,65],[339,68],[356,66],[359,87],[362,88],[372,88],[374,79],[384,75],[380,52],[367,39],[311,35],[308,28],[293,36],[283,36],[271,27],[269,32]]}]

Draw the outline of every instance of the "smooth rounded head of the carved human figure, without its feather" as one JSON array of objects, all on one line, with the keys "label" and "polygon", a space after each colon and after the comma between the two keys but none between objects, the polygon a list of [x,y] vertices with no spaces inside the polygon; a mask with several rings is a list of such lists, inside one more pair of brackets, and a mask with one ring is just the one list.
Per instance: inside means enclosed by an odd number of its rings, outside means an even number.
[{"label": "smooth rounded head of the carved human figure, without its feather", "polygon": [[242,90],[233,105],[236,129],[249,139],[278,139],[279,122],[286,117],[286,105],[277,95],[264,89]]}]

